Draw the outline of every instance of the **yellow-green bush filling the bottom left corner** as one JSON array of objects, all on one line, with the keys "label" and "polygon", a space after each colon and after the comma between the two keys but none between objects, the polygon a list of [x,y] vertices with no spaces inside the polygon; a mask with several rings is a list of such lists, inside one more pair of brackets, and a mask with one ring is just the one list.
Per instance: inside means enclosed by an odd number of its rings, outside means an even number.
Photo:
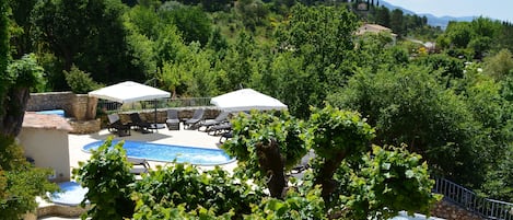
[{"label": "yellow-green bush filling the bottom left corner", "polygon": [[36,196],[57,190],[48,169],[32,166],[12,137],[0,137],[0,218],[20,219],[37,207]]}]

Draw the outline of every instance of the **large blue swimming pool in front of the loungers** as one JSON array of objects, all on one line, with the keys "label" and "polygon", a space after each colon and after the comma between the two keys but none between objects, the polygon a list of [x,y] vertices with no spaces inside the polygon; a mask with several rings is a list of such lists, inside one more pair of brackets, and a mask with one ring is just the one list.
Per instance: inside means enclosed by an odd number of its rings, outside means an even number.
[{"label": "large blue swimming pool in front of the loungers", "polygon": [[[113,140],[113,146],[119,140]],[[83,147],[83,150],[91,152],[97,149],[105,141],[94,141]],[[127,151],[128,158],[147,159],[151,161],[190,163],[196,165],[222,165],[235,161],[223,150],[198,147],[171,146],[160,143],[149,143],[141,141],[125,140],[123,148]]]}]

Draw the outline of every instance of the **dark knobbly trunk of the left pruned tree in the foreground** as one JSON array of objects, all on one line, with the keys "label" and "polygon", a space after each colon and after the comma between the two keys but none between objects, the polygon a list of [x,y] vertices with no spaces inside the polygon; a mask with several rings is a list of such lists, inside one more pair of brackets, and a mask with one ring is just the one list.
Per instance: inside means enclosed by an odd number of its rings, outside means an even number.
[{"label": "dark knobbly trunk of the left pruned tree in the foreground", "polygon": [[284,159],[281,157],[280,148],[275,140],[269,144],[257,144],[258,163],[260,167],[270,177],[267,187],[271,197],[283,198],[283,189],[285,188]]}]

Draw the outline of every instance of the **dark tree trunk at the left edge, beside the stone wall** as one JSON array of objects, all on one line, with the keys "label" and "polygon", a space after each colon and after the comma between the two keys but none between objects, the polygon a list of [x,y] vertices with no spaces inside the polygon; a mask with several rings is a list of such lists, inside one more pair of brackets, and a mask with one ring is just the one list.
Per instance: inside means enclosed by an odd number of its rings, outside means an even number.
[{"label": "dark tree trunk at the left edge, beside the stone wall", "polygon": [[28,88],[13,88],[8,92],[3,100],[4,114],[0,115],[1,135],[16,137],[20,134],[30,96]]}]

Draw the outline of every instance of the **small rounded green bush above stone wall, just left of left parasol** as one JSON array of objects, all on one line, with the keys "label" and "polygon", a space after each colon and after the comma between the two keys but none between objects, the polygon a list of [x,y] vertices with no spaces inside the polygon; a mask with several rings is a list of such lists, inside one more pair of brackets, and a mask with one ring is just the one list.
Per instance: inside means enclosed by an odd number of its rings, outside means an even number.
[{"label": "small rounded green bush above stone wall, just left of left parasol", "polygon": [[86,94],[102,86],[93,81],[91,73],[80,70],[77,66],[72,66],[70,71],[65,70],[65,76],[66,82],[75,94]]}]

